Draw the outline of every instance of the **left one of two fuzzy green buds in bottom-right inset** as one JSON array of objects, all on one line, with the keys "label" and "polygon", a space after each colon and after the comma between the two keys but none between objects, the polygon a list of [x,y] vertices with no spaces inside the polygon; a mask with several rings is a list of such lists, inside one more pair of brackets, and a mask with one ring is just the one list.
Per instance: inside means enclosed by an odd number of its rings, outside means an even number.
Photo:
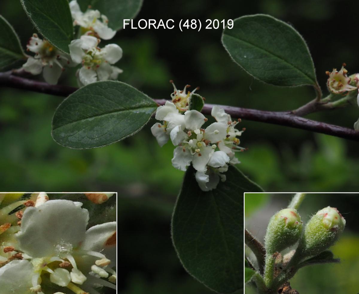
[{"label": "left one of two fuzzy green buds in bottom-right inset", "polygon": [[285,208],[278,211],[269,220],[265,237],[266,251],[273,254],[295,244],[302,234],[302,224],[297,210]]}]

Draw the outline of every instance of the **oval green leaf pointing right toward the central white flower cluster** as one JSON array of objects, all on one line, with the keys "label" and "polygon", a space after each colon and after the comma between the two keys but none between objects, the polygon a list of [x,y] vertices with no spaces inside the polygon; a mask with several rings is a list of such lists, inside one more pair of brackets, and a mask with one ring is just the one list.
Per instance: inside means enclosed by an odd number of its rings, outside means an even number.
[{"label": "oval green leaf pointing right toward the central white flower cluster", "polygon": [[71,94],[56,109],[52,137],[70,148],[105,146],[138,132],[157,106],[128,84],[92,83]]}]

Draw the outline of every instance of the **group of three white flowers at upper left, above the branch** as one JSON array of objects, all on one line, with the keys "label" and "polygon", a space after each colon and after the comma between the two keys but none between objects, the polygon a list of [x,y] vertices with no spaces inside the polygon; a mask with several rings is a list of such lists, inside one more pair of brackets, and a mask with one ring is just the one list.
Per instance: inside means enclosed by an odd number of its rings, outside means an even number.
[{"label": "group of three white flowers at upper left, above the branch", "polygon": [[107,17],[98,10],[87,9],[83,13],[76,0],[69,5],[74,25],[80,27],[81,35],[71,41],[70,55],[34,34],[27,44],[27,51],[35,53],[35,56],[28,57],[24,70],[33,75],[43,72],[47,83],[57,84],[65,66],[81,64],[76,72],[80,87],[96,81],[116,80],[122,70],[113,64],[122,58],[121,47],[116,44],[98,47],[101,39],[110,40],[116,31],[108,27]]}]

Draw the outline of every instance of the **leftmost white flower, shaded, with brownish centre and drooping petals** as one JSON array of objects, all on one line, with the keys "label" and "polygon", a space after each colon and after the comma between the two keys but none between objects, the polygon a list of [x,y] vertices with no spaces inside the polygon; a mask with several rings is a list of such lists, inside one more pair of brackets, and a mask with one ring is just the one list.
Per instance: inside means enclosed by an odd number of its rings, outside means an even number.
[{"label": "leftmost white flower, shaded, with brownish centre and drooping petals", "polygon": [[72,65],[69,56],[56,49],[48,41],[41,40],[37,34],[33,34],[26,45],[27,51],[35,53],[23,64],[26,72],[33,75],[43,72],[43,78],[49,84],[57,84],[64,65]]}]

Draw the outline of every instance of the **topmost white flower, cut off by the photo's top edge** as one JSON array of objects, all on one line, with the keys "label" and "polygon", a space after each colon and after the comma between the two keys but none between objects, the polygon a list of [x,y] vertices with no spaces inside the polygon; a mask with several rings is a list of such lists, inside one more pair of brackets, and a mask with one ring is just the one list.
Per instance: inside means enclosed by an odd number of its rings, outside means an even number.
[{"label": "topmost white flower, cut off by the photo's top edge", "polygon": [[110,40],[115,36],[116,31],[108,27],[108,18],[103,14],[101,15],[98,10],[88,9],[83,13],[76,0],[71,1],[69,4],[74,26],[80,26],[82,34],[90,32],[95,37],[103,40]]}]

